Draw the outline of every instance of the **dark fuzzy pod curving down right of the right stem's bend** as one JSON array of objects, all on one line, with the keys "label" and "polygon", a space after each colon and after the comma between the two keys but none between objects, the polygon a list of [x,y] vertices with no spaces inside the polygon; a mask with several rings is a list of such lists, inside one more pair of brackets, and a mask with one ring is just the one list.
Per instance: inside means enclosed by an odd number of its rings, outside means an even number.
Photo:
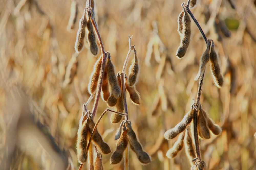
[{"label": "dark fuzzy pod curving down right of the right stem's bend", "polygon": [[212,41],[211,53],[210,53],[211,72],[212,72],[212,75],[213,75],[213,78],[214,78],[214,84],[218,88],[221,88],[222,85],[223,85],[224,80],[223,80],[223,77],[220,73],[220,66],[219,66],[219,63],[218,63],[218,55],[215,52],[214,46],[215,46],[214,42]]}]

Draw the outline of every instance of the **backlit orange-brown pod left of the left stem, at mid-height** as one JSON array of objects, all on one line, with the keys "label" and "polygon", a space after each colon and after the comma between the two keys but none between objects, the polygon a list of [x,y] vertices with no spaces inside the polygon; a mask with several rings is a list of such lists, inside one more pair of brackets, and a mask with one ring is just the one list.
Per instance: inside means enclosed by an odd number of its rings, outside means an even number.
[{"label": "backlit orange-brown pod left of the left stem, at mid-height", "polygon": [[98,81],[100,77],[101,65],[102,65],[102,56],[100,56],[100,58],[95,62],[93,66],[93,71],[89,80],[88,92],[91,95],[94,94],[95,90],[97,89]]}]

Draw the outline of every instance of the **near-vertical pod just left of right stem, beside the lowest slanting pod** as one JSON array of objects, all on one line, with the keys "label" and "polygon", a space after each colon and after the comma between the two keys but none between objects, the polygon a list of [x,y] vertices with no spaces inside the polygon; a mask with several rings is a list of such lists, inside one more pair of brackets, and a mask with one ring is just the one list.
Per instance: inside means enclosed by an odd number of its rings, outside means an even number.
[{"label": "near-vertical pod just left of right stem, beside the lowest slanting pod", "polygon": [[[184,143],[185,143],[186,155],[188,159],[191,161],[196,157],[196,152],[195,152],[195,146],[194,146],[193,140],[191,138],[190,126],[188,126],[185,132]],[[191,162],[191,164],[193,163]]]}]

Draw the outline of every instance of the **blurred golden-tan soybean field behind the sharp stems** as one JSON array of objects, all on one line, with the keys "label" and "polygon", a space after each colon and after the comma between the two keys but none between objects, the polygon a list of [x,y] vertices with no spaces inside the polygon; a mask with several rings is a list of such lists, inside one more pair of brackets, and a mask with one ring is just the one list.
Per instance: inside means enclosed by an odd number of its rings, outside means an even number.
[{"label": "blurred golden-tan soybean field behind the sharp stems", "polygon": [[[163,133],[182,120],[196,99],[198,81],[194,77],[206,49],[191,22],[188,51],[183,59],[176,58],[182,2],[95,0],[99,32],[116,72],[123,67],[129,34],[140,60],[136,85],[140,105],[133,105],[128,95],[127,104],[133,129],[152,156],[152,163],[142,166],[130,150],[130,169],[190,168],[184,149],[174,159],[165,156],[177,138],[163,139]],[[75,53],[85,3],[0,0],[0,169],[79,168],[78,123],[82,105],[89,98],[88,81],[97,59],[86,42],[77,57],[76,76],[70,84],[63,82]],[[219,137],[201,140],[202,159],[208,169],[256,169],[255,4],[255,0],[199,0],[191,9],[206,37],[214,40],[225,74],[225,84],[218,89],[209,65],[206,67],[200,103],[222,127]],[[93,102],[88,109],[92,106]],[[100,100],[95,120],[106,107]],[[112,152],[118,127],[110,123],[110,114],[98,125]],[[123,161],[110,165],[110,156],[102,156],[104,169],[123,169]]]}]

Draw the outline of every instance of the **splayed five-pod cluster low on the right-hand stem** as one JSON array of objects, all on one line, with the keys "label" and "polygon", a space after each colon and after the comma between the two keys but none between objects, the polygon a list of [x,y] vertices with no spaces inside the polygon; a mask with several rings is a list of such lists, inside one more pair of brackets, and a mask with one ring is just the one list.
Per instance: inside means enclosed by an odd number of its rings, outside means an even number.
[{"label": "splayed five-pod cluster low on the right-hand stem", "polygon": [[178,140],[174,143],[173,147],[170,148],[166,156],[168,158],[173,158],[177,153],[182,150],[185,145],[187,156],[190,160],[196,157],[194,150],[193,138],[191,136],[189,124],[193,120],[194,112],[197,114],[197,130],[198,135],[201,139],[210,139],[211,133],[214,135],[221,134],[221,128],[214,123],[212,119],[209,118],[208,114],[199,105],[199,109],[192,105],[191,110],[184,116],[184,118],[179,122],[174,128],[167,130],[164,133],[164,137],[167,140],[173,139],[179,135]]}]

